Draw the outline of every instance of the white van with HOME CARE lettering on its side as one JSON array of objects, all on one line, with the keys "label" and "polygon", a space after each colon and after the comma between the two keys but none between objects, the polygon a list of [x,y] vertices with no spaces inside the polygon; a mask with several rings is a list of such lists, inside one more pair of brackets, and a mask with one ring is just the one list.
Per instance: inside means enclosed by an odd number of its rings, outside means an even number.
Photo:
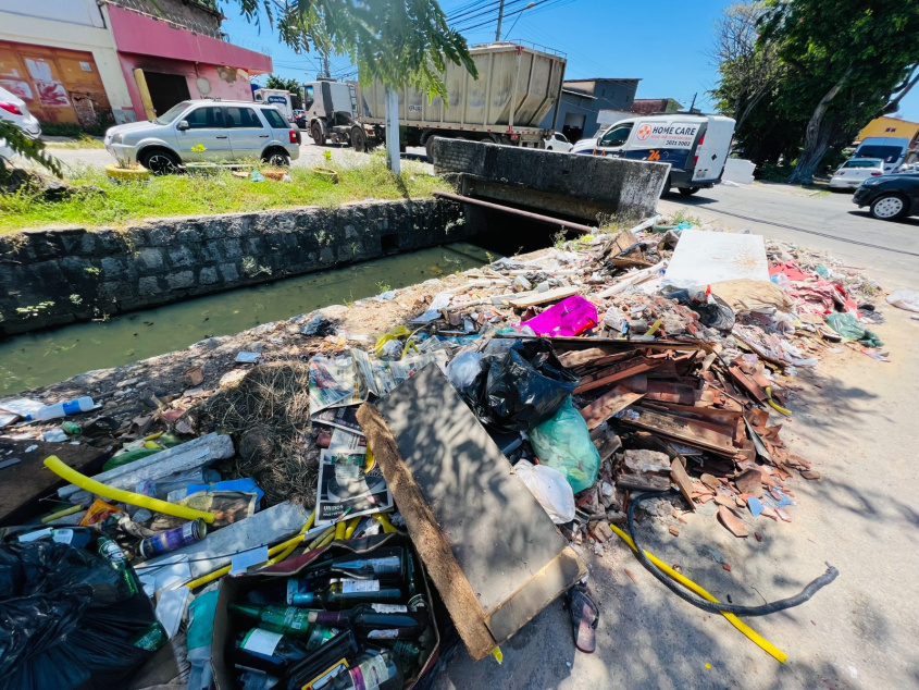
[{"label": "white van with HOME CARE lettering on its side", "polygon": [[670,163],[665,192],[690,195],[721,182],[733,136],[734,121],[723,115],[639,115],[582,139],[571,152]]}]

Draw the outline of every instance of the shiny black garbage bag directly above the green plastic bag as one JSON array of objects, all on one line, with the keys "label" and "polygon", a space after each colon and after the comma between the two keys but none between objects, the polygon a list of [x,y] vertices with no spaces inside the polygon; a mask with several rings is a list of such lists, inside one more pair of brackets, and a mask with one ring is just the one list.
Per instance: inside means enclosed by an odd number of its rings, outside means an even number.
[{"label": "shiny black garbage bag directly above the green plastic bag", "polygon": [[484,357],[476,384],[465,393],[483,424],[494,431],[522,431],[555,415],[578,380],[561,366],[550,341],[519,340]]}]

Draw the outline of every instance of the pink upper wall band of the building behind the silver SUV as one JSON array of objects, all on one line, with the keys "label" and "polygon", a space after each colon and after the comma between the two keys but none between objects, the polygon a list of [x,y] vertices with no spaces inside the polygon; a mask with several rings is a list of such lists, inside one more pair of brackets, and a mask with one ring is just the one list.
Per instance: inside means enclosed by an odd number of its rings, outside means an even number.
[{"label": "pink upper wall band of the building behind the silver SUV", "polygon": [[177,28],[115,4],[105,7],[120,52],[239,67],[253,74],[272,71],[269,56]]}]

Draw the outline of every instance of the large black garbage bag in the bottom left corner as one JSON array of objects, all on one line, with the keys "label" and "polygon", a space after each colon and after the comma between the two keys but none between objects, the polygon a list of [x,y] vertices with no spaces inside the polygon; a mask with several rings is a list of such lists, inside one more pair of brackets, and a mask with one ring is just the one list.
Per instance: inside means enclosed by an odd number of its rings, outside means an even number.
[{"label": "large black garbage bag in the bottom left corner", "polygon": [[156,617],[111,564],[51,541],[0,546],[0,690],[120,687]]}]

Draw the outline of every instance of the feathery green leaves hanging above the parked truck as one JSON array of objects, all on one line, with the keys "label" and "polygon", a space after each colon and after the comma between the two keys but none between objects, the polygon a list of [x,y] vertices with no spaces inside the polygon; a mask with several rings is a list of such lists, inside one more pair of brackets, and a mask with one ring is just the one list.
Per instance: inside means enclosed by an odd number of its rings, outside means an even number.
[{"label": "feathery green leaves hanging above the parked truck", "polygon": [[474,76],[465,39],[447,25],[437,0],[231,0],[259,24],[268,16],[281,39],[298,51],[346,54],[362,84],[411,85],[446,97],[447,62]]}]

